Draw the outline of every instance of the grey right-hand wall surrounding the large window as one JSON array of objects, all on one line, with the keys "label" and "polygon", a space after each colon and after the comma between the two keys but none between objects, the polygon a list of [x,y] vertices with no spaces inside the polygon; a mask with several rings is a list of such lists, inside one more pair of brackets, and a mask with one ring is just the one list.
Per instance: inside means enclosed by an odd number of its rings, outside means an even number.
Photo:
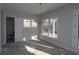
[{"label": "grey right-hand wall surrounding the large window", "polygon": [[51,16],[58,18],[58,39],[48,38],[41,35],[40,38],[79,54],[79,49],[72,47],[73,11],[78,8],[79,4],[69,4],[43,14],[42,19],[50,18]]}]

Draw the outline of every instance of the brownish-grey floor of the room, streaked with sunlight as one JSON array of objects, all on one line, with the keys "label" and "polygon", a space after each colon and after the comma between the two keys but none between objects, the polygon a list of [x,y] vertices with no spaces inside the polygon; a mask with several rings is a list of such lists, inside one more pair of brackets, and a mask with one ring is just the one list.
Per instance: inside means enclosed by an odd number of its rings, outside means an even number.
[{"label": "brownish-grey floor of the room, streaked with sunlight", "polygon": [[74,53],[43,40],[8,43],[3,46],[2,55],[73,55]]}]

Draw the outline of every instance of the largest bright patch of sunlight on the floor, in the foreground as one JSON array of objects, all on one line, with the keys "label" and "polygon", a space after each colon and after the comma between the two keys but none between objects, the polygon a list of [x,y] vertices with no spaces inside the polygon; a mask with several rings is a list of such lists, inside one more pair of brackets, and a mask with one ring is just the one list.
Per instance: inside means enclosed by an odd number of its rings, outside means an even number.
[{"label": "largest bright patch of sunlight on the floor, in the foreground", "polygon": [[25,48],[26,48],[29,52],[31,52],[31,53],[33,53],[33,54],[36,54],[36,55],[50,55],[50,54],[48,54],[48,53],[46,53],[46,52],[37,50],[37,49],[35,49],[35,48],[33,48],[33,47],[25,46]]}]

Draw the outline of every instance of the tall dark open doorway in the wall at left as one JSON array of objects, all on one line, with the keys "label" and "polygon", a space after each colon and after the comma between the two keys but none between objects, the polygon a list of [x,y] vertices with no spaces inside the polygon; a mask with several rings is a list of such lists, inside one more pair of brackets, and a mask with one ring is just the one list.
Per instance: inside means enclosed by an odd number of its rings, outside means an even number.
[{"label": "tall dark open doorway in the wall at left", "polygon": [[6,43],[15,42],[15,18],[6,17]]}]

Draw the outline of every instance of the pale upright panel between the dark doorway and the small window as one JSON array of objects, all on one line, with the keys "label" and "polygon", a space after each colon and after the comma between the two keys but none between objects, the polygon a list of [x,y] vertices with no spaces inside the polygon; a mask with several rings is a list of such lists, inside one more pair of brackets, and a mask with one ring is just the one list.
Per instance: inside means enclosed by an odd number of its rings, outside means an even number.
[{"label": "pale upright panel between the dark doorway and the small window", "polygon": [[15,17],[15,42],[22,41],[22,18]]}]

